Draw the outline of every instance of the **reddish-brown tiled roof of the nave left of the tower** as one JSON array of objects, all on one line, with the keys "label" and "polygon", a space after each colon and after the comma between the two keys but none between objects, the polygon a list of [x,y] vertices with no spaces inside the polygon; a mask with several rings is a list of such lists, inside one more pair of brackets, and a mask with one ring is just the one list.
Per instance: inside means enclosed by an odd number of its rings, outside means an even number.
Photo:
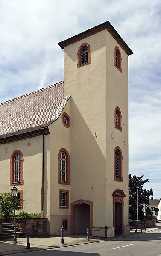
[{"label": "reddish-brown tiled roof of the nave left of the tower", "polygon": [[40,129],[55,121],[69,97],[63,82],[0,104],[0,138]]}]

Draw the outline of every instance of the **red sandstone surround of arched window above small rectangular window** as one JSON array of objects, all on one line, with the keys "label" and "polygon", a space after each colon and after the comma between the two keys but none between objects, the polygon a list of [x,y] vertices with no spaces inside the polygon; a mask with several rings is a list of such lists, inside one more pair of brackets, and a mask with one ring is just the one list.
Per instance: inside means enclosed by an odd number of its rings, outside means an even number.
[{"label": "red sandstone surround of arched window above small rectangular window", "polygon": [[[63,152],[66,156],[66,181],[60,179],[60,153]],[[70,155],[65,148],[61,148],[58,153],[58,184],[70,185]]]}]

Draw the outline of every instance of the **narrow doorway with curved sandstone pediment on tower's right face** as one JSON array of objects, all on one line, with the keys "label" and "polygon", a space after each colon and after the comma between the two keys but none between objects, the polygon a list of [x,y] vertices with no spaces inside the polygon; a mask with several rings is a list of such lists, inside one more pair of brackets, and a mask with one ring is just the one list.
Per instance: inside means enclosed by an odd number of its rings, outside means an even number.
[{"label": "narrow doorway with curved sandstone pediment on tower's right face", "polygon": [[114,236],[124,235],[124,223],[123,223],[123,197],[125,193],[123,190],[116,189],[113,195],[113,226],[114,226]]}]

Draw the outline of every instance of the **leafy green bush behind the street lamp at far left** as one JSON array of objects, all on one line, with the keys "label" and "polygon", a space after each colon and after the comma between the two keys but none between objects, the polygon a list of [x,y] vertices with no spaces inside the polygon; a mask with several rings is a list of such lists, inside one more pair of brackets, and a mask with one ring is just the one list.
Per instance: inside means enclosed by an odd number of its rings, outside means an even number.
[{"label": "leafy green bush behind the street lamp at far left", "polygon": [[[20,200],[15,200],[16,209],[19,210]],[[12,217],[14,208],[13,197],[10,192],[3,192],[0,194],[0,216],[1,218]]]}]

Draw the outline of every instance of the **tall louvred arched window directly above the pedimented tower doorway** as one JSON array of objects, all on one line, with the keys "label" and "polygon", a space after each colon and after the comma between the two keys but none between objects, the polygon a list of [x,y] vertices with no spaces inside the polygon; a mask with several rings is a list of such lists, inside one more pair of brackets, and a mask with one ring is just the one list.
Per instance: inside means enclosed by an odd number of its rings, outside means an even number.
[{"label": "tall louvred arched window directly above the pedimented tower doorway", "polygon": [[120,147],[115,147],[114,149],[114,180],[116,181],[123,181],[122,176],[122,152]]}]

